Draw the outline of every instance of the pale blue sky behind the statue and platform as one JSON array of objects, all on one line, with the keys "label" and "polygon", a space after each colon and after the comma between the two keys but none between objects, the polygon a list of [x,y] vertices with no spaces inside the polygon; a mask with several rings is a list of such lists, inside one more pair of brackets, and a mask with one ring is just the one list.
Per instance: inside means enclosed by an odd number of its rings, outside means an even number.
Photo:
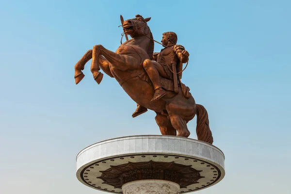
[{"label": "pale blue sky behind the statue and platform", "polygon": [[197,194],[290,194],[290,0],[0,0],[0,193],[101,194],[77,180],[78,152],[160,134],[154,112],[131,117],[115,79],[93,80],[91,61],[75,85],[88,49],[120,45],[120,14],[152,17],[156,40],[174,31],[190,53],[182,80],[226,155],[226,177]]}]

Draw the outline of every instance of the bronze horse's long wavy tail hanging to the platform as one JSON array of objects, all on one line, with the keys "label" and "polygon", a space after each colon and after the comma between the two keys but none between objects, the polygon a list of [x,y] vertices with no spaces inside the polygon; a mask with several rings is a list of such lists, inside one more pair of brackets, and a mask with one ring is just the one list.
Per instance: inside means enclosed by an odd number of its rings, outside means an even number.
[{"label": "bronze horse's long wavy tail hanging to the platform", "polygon": [[197,126],[196,133],[198,140],[213,143],[212,133],[209,127],[208,113],[204,106],[196,104]]}]

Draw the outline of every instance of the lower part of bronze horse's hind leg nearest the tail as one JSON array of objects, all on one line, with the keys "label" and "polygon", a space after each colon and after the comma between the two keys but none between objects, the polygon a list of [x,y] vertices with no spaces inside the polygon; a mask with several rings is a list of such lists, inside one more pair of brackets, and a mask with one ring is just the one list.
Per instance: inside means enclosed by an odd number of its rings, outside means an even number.
[{"label": "lower part of bronze horse's hind leg nearest the tail", "polygon": [[188,130],[187,122],[180,115],[170,115],[170,120],[173,127],[178,131],[177,136],[189,137],[190,131]]}]

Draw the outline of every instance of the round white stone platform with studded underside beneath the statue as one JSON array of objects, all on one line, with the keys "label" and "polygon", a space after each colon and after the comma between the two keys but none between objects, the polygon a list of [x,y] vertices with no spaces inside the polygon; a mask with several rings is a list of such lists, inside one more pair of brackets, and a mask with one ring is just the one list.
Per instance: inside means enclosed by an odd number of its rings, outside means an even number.
[{"label": "round white stone platform with studded underside beneath the statue", "polygon": [[83,149],[77,156],[77,178],[89,187],[110,193],[123,193],[130,183],[150,179],[171,182],[179,186],[178,193],[187,193],[222,180],[224,160],[220,149],[198,140],[129,136]]}]

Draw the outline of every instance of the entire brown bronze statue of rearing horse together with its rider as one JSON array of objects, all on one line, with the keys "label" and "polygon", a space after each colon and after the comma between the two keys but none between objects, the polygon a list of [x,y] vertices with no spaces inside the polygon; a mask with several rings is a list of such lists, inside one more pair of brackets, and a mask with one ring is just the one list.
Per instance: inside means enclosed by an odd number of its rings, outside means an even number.
[{"label": "entire brown bronze statue of rearing horse together with its rider", "polygon": [[[123,31],[131,37],[116,50],[95,45],[75,65],[75,81],[78,84],[84,74],[81,70],[92,59],[91,72],[99,84],[103,74],[115,78],[125,92],[137,103],[132,117],[155,111],[162,135],[188,137],[187,123],[197,115],[196,133],[198,140],[212,144],[206,109],[195,100],[190,89],[181,82],[182,66],[187,63],[189,53],[177,45],[177,35],[165,32],[162,35],[161,52],[154,53],[153,35],[147,25],[149,18],[140,15],[123,21]],[[178,133],[177,133],[178,132]]]}]

